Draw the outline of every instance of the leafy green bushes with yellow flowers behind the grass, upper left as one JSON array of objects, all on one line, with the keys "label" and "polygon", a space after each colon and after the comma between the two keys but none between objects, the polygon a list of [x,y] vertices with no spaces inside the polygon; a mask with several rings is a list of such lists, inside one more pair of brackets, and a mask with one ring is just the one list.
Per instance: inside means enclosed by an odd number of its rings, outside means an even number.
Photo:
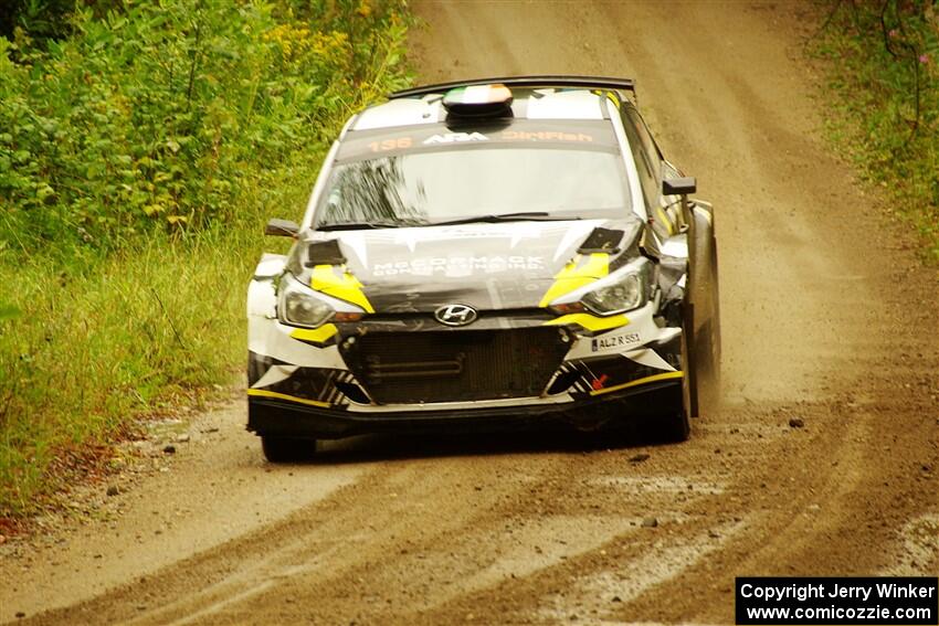
[{"label": "leafy green bushes with yellow flowers behind the grass, upper left", "polygon": [[[245,215],[245,185],[388,86],[389,7],[127,1],[75,34],[0,41],[0,246],[114,250]],[[279,15],[279,19],[278,19]],[[18,62],[11,52],[18,52]]]}]

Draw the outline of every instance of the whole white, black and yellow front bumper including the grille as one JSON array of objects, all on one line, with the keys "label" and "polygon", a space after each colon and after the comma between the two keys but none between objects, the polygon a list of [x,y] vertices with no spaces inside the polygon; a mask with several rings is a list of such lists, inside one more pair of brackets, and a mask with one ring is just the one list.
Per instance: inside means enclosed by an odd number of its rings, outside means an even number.
[{"label": "whole white, black and yellow front bumper including the grille", "polygon": [[447,330],[376,315],[307,330],[281,323],[275,301],[270,280],[252,283],[247,427],[260,435],[589,429],[680,411],[682,331],[656,323],[653,303],[605,318],[520,309]]}]

